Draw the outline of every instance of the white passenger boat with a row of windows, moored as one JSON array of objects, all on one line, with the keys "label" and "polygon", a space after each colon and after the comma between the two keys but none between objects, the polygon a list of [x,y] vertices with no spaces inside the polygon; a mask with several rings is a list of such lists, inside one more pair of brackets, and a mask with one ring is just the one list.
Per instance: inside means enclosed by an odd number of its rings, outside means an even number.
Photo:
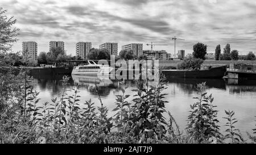
[{"label": "white passenger boat with a row of windows, moored", "polygon": [[88,64],[75,66],[72,75],[94,75],[102,76],[109,75],[113,68],[109,65],[98,65],[94,61],[88,60]]}]

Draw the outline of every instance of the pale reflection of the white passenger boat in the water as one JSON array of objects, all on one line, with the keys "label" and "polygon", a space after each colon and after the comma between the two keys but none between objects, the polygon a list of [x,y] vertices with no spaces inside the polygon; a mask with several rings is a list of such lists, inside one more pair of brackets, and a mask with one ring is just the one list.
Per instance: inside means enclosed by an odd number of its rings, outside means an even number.
[{"label": "pale reflection of the white passenger boat in the water", "polygon": [[113,82],[109,79],[109,77],[100,77],[97,76],[85,76],[85,75],[74,75],[72,74],[72,79],[75,84],[80,86],[109,86],[112,85]]}]

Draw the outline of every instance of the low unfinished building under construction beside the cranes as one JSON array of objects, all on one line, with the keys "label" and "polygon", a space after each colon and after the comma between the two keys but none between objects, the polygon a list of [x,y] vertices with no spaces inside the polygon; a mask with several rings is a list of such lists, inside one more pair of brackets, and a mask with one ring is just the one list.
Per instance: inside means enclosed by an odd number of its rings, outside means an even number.
[{"label": "low unfinished building under construction beside the cranes", "polygon": [[164,50],[161,51],[153,51],[145,50],[143,51],[143,55],[147,57],[147,59],[156,59],[156,60],[169,60],[171,58],[171,54],[167,53]]}]

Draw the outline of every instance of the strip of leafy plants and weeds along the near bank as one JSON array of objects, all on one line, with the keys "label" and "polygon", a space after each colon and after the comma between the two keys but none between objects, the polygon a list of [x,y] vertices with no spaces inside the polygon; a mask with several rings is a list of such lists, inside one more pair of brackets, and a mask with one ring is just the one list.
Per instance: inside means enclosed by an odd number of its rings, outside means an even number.
[{"label": "strip of leafy plants and weeds along the near bank", "polygon": [[[198,102],[191,105],[186,133],[167,112],[163,90],[167,83],[161,77],[158,85],[148,87],[138,81],[138,89],[130,102],[125,81],[120,81],[122,94],[116,97],[115,115],[108,116],[100,95],[100,105],[92,100],[82,102],[79,87],[67,89],[69,77],[63,77],[60,98],[42,103],[39,93],[29,86],[22,87],[22,98],[6,102],[0,117],[1,143],[245,143],[234,128],[233,111],[226,111],[226,135],[221,135],[212,95],[205,93],[205,83],[198,85]],[[97,86],[96,86],[97,88]],[[14,89],[15,90],[15,89]],[[26,90],[26,91],[24,91]],[[68,95],[72,91],[73,95]],[[16,91],[18,92],[18,91]],[[97,89],[96,89],[96,93]],[[3,97],[3,95],[1,96]],[[6,96],[8,98],[8,96]],[[24,98],[24,99],[23,99]],[[26,99],[25,99],[26,98]],[[168,114],[169,118],[164,118]],[[255,137],[250,135],[251,141]]]}]

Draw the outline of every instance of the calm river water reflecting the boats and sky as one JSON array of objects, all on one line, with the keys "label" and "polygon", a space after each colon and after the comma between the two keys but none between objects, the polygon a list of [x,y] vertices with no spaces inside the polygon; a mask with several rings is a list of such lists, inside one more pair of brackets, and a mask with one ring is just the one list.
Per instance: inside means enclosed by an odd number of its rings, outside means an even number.
[{"label": "calm river water reflecting the boats and sky", "polygon": [[[39,91],[41,102],[51,102],[51,98],[60,97],[63,85],[60,82],[62,76],[34,76],[34,85],[36,91]],[[177,124],[181,129],[187,125],[187,116],[189,115],[190,104],[197,100],[193,97],[198,97],[196,90],[197,83],[206,82],[208,94],[214,97],[213,104],[218,110],[218,119],[221,126],[221,132],[224,133],[226,120],[224,110],[233,110],[234,117],[238,119],[238,123],[234,126],[240,129],[242,135],[247,139],[246,132],[253,133],[252,129],[256,124],[256,81],[238,81],[232,79],[168,79],[168,88],[163,93],[167,93],[166,110],[170,111],[174,116]],[[131,102],[133,89],[137,89],[135,81],[126,81],[129,87],[126,89],[126,94],[131,95],[127,100]],[[101,96],[102,102],[109,109],[109,115],[113,115],[112,110],[115,108],[115,95],[121,95],[118,81],[100,80],[95,77],[73,77],[69,80],[68,89],[79,85],[80,103],[85,103],[85,100],[92,99],[96,106],[100,106],[96,86]],[[68,92],[72,95],[73,92]],[[164,115],[168,118],[167,115]]]}]

